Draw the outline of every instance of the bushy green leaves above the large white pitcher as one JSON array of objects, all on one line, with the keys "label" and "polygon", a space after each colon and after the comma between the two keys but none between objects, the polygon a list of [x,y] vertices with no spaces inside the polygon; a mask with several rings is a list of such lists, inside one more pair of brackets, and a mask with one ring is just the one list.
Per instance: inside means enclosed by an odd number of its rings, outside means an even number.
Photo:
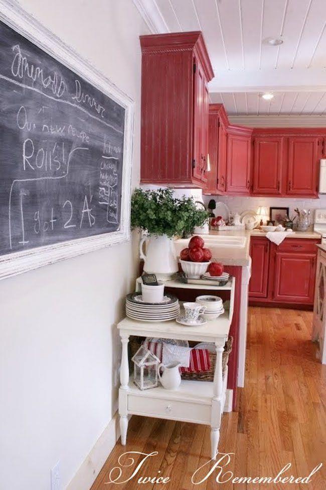
[{"label": "bushy green leaves above the large white pitcher", "polygon": [[202,226],[208,213],[197,209],[192,198],[173,197],[173,189],[136,189],[131,197],[131,228],[150,235],[182,235]]}]

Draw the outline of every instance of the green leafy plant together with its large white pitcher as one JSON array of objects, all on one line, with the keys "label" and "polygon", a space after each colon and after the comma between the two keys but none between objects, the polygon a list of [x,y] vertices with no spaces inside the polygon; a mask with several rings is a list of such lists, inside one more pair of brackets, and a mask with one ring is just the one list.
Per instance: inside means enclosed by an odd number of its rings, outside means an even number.
[{"label": "green leafy plant together with its large white pitcher", "polygon": [[171,277],[178,271],[172,238],[191,234],[195,226],[202,226],[207,219],[207,212],[197,209],[192,198],[175,198],[173,189],[136,189],[131,197],[131,228],[147,234],[139,244],[144,271],[155,273],[159,279]]}]

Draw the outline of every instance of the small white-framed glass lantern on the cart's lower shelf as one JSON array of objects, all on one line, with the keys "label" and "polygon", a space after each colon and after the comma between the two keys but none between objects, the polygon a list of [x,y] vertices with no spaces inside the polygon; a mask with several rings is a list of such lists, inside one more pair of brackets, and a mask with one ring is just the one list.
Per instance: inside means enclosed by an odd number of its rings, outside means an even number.
[{"label": "small white-framed glass lantern on the cart's lower shelf", "polygon": [[158,357],[142,345],[132,357],[133,382],[139,389],[155,388],[157,386]]}]

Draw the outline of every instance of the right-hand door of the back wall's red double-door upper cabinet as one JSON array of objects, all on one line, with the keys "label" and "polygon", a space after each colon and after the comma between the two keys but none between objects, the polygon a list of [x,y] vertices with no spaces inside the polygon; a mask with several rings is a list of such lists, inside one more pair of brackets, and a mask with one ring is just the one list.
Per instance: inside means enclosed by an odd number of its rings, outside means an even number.
[{"label": "right-hand door of the back wall's red double-door upper cabinet", "polygon": [[320,143],[317,137],[289,137],[286,194],[318,195]]}]

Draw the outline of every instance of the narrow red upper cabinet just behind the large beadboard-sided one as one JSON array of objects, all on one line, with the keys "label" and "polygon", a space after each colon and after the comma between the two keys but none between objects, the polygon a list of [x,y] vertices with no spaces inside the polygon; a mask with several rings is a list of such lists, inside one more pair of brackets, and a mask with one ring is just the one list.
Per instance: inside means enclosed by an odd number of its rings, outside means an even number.
[{"label": "narrow red upper cabinet just behind the large beadboard-sided one", "polygon": [[222,104],[209,105],[208,154],[211,170],[207,173],[204,194],[223,194],[226,187],[226,145],[228,118]]}]

